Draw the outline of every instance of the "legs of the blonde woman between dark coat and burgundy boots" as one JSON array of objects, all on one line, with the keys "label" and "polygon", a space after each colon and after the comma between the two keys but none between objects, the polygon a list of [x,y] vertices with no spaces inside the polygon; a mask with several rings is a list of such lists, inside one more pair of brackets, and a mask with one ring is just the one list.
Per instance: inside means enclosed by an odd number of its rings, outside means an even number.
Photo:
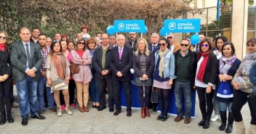
[{"label": "legs of the blonde woman between dark coat and burgundy boots", "polygon": [[139,89],[140,106],[148,107],[149,99],[151,96],[151,86],[144,86],[144,87],[145,87],[145,90],[143,89],[143,86],[137,86],[137,88]]}]

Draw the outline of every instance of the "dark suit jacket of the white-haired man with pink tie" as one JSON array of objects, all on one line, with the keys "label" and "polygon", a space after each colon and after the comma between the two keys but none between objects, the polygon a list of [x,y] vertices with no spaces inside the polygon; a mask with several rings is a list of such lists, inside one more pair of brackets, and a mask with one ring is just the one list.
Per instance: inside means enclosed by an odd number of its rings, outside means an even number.
[{"label": "dark suit jacket of the white-haired man with pink tie", "polygon": [[[130,69],[132,67],[132,49],[124,45],[124,50],[121,55],[121,59],[119,59],[119,47],[114,47],[111,49],[111,70],[112,70],[112,80],[122,80],[122,81],[130,81],[131,80],[131,72]],[[119,78],[116,73],[121,72],[123,75]]]}]

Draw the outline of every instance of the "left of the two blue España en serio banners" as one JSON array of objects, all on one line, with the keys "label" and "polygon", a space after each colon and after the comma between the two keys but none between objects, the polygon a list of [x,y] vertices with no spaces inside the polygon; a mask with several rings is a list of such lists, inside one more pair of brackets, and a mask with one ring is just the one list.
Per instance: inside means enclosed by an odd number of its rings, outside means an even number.
[{"label": "left of the two blue Espa\u00f1a en serio banners", "polygon": [[115,20],[114,28],[116,32],[145,32],[145,20]]}]

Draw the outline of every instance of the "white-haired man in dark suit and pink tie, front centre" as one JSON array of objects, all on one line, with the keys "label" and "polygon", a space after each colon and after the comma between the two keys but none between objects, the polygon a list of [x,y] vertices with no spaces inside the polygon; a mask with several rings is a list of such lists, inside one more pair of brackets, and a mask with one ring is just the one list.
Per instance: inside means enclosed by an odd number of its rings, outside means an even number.
[{"label": "white-haired man in dark suit and pink tie, front centre", "polygon": [[124,85],[125,97],[127,100],[127,117],[132,116],[132,87],[131,87],[131,72],[132,67],[132,49],[124,45],[124,35],[116,36],[117,47],[111,50],[111,70],[113,81],[113,98],[116,103],[116,112],[113,115],[118,115],[121,112],[121,84]]}]

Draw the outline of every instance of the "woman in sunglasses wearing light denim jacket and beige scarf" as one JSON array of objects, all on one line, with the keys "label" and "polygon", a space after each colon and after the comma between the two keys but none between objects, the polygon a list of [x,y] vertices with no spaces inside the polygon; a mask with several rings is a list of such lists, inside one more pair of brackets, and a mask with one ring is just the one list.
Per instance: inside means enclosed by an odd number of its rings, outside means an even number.
[{"label": "woman in sunglasses wearing light denim jacket and beige scarf", "polygon": [[172,88],[172,80],[175,76],[175,56],[169,50],[170,43],[166,38],[159,40],[159,51],[155,53],[155,70],[153,72],[153,87],[159,96],[161,114],[156,120],[162,122],[168,119],[169,91]]}]

